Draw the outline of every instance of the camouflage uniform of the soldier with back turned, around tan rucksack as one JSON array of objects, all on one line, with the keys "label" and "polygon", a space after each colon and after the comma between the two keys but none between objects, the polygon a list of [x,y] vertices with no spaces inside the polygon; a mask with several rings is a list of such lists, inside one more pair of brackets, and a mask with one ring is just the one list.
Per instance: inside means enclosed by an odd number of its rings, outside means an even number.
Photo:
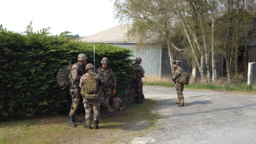
[{"label": "camouflage uniform of the soldier with back turned, around tan rucksack", "polygon": [[[91,73],[85,73],[84,75],[82,75],[81,79],[80,79],[80,83],[79,83],[79,87],[82,89],[82,87],[84,87],[84,82],[85,82],[85,78],[86,76]],[[102,97],[102,84],[101,84],[101,79],[100,76],[98,74],[96,74],[96,78],[99,79],[99,93],[100,96]],[[85,109],[85,120],[86,120],[86,125],[91,125],[91,118],[92,118],[92,113],[93,113],[93,118],[95,121],[99,121],[100,120],[100,99],[97,100],[88,100],[86,98],[84,98],[83,96],[83,103],[84,103],[84,109]]]}]

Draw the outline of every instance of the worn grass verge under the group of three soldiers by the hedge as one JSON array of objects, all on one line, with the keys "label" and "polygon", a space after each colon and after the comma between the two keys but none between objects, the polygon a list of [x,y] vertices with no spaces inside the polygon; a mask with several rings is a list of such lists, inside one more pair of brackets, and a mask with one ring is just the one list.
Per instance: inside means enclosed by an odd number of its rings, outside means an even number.
[{"label": "worn grass verge under the group of three soldiers by the hedge", "polygon": [[[82,123],[76,128],[68,126],[68,116],[41,116],[30,119],[8,119],[0,121],[0,143],[4,144],[60,144],[60,143],[115,143],[131,141],[138,129],[149,131],[157,122],[156,114],[150,112],[156,101],[144,100],[144,103],[126,103],[125,111],[116,111],[110,118],[100,118],[100,129],[85,129],[85,115],[77,115]],[[140,126],[138,122],[149,123]],[[92,121],[92,126],[94,121]]]}]

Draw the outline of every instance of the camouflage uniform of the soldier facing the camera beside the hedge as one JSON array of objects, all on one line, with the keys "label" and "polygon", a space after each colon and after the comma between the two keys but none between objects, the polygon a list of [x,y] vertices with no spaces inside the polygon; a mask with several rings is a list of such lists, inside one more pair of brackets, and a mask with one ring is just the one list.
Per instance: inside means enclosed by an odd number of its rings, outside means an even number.
[{"label": "camouflage uniform of the soldier facing the camera beside the hedge", "polygon": [[[96,72],[100,75],[103,84],[103,97],[100,98],[100,104],[103,106],[103,113],[113,113],[115,110],[109,105],[109,100],[112,94],[111,89],[116,90],[116,78],[112,69],[98,68]],[[109,77],[109,78],[108,78]]]}]

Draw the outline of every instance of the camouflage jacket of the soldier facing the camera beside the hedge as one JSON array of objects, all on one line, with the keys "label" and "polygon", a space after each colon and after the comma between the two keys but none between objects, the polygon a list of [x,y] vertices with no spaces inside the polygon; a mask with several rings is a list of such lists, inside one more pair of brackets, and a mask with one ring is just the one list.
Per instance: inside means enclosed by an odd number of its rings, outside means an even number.
[{"label": "camouflage jacket of the soldier facing the camera beside the hedge", "polygon": [[98,68],[96,72],[100,75],[102,79],[103,88],[113,88],[116,90],[116,77],[112,69],[110,68]]}]

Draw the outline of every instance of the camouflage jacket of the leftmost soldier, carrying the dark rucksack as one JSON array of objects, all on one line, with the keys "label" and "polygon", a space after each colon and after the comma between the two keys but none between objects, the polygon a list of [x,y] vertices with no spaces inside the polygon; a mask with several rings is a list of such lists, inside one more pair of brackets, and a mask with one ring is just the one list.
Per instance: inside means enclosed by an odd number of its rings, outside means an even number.
[{"label": "camouflage jacket of the leftmost soldier, carrying the dark rucksack", "polygon": [[84,74],[84,72],[82,71],[82,66],[80,65],[79,62],[71,66],[71,73],[72,73],[72,78],[71,78],[72,84],[78,85],[81,76]]}]

